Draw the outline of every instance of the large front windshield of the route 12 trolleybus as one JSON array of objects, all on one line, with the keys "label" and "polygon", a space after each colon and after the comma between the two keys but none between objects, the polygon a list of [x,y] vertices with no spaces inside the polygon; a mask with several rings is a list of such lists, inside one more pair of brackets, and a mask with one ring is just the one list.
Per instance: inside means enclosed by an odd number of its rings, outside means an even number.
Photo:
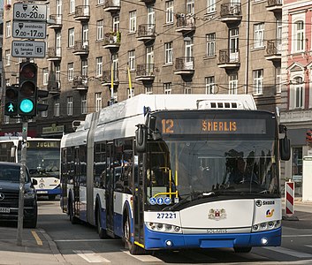
[{"label": "large front windshield of the route 12 trolleybus", "polygon": [[149,186],[159,189],[160,180],[170,186],[166,180],[170,169],[171,190],[175,187],[180,198],[190,193],[279,195],[274,140],[184,139],[150,142],[150,146],[148,172],[156,180]]}]

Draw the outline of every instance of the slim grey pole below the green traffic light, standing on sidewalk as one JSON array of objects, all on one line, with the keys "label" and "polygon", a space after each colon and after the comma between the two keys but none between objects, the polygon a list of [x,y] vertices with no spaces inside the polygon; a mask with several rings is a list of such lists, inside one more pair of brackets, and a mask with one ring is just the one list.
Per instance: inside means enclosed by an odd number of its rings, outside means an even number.
[{"label": "slim grey pole below the green traffic light, standing on sidewalk", "polygon": [[22,246],[23,240],[23,218],[24,218],[24,193],[25,193],[25,178],[26,178],[26,156],[27,156],[27,131],[28,118],[22,117],[22,145],[20,155],[20,175],[19,175],[19,217],[18,217],[18,232],[17,245]]}]

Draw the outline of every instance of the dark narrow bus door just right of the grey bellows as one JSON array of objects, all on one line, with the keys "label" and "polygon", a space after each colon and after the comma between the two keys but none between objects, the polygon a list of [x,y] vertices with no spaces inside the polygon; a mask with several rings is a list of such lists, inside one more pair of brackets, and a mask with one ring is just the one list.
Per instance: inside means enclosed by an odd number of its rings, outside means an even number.
[{"label": "dark narrow bus door just right of the grey bellows", "polygon": [[106,183],[105,183],[105,201],[106,201],[106,230],[113,236],[114,231],[114,154],[113,144],[106,145]]}]

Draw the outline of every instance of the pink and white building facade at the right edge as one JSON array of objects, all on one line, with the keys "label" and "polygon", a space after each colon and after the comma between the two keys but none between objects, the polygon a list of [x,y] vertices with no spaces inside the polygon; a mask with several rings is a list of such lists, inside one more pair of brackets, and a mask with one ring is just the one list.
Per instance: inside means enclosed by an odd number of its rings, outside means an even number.
[{"label": "pink and white building facade at the right edge", "polygon": [[302,159],[312,155],[306,133],[312,129],[312,3],[286,0],[283,5],[283,100],[281,122],[287,125],[292,144],[292,158],[285,163],[285,179],[296,181],[301,193]]}]

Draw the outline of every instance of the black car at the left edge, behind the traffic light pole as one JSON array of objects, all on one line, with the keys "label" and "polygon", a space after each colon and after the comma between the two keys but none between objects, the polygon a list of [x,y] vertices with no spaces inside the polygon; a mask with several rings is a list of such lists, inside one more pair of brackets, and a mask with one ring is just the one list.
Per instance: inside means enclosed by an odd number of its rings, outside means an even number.
[{"label": "black car at the left edge, behind the traffic light pole", "polygon": [[[18,221],[19,216],[19,177],[20,164],[0,162],[0,221]],[[37,225],[36,180],[30,178],[28,169],[25,176],[24,227]]]}]

